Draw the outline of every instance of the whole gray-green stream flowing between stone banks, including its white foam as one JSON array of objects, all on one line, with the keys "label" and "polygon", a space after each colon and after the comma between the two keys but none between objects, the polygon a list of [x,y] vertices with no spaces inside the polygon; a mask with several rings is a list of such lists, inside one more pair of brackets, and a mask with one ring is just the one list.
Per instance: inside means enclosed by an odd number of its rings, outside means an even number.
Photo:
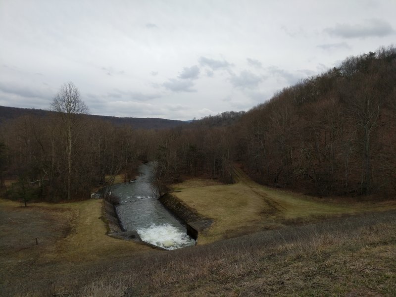
[{"label": "whole gray-green stream flowing between stone banks, including its white foam", "polygon": [[135,181],[111,188],[112,196],[119,198],[116,211],[122,227],[136,230],[143,241],[157,247],[194,246],[195,241],[187,235],[186,226],[157,200],[152,169],[152,163],[143,164]]}]

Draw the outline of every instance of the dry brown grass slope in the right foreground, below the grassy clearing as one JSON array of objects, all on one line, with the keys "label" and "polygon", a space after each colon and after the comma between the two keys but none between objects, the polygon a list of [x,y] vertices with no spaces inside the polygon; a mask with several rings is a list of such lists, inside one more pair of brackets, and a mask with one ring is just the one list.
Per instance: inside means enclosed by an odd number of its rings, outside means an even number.
[{"label": "dry brown grass slope in the right foreground, below the grassy clearing", "polygon": [[127,258],[118,273],[73,294],[395,296],[395,219],[395,212],[335,218]]}]

